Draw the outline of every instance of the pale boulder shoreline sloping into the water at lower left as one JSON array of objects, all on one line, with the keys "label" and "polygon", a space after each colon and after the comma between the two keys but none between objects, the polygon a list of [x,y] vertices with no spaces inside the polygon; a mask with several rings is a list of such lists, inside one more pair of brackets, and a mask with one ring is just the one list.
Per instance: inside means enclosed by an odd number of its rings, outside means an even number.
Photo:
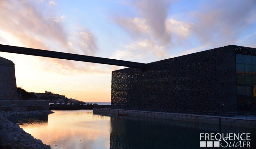
[{"label": "pale boulder shoreline sloping into the water at lower left", "polygon": [[50,110],[1,111],[0,110],[0,148],[1,149],[51,149],[39,139],[25,132],[19,125],[7,120],[5,116],[50,114]]}]

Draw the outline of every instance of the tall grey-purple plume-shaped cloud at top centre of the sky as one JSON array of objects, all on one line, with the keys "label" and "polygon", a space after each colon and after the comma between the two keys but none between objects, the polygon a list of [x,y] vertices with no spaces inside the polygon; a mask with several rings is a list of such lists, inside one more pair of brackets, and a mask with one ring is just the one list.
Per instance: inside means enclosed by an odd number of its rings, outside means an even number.
[{"label": "tall grey-purple plume-shaped cloud at top centre of the sky", "polygon": [[170,32],[166,28],[166,18],[170,1],[168,0],[136,0],[125,3],[134,7],[138,17],[116,16],[115,22],[124,28],[133,38],[154,40],[159,45],[171,43]]}]

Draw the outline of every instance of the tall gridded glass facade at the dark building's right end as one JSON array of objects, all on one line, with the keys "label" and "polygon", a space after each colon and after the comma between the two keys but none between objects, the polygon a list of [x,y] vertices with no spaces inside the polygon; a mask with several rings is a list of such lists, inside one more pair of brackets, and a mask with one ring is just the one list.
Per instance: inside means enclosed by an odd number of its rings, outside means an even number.
[{"label": "tall gridded glass facade at the dark building's right end", "polygon": [[256,56],[236,54],[237,108],[240,112],[256,109]]}]

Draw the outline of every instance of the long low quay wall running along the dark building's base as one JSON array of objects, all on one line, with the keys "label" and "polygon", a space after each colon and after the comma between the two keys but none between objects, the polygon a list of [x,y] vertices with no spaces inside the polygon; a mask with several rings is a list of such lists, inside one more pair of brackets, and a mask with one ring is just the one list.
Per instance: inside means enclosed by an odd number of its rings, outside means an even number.
[{"label": "long low quay wall running along the dark building's base", "polygon": [[232,127],[246,127],[256,128],[256,117],[241,116],[241,117],[225,117],[225,116],[211,116],[211,115],[195,115],[195,114],[180,114],[180,113],[166,113],[166,112],[152,112],[139,110],[124,110],[111,108],[93,108],[93,114],[113,114],[113,115],[127,115],[140,116],[150,118],[171,119],[177,121],[186,121],[194,123],[208,123]]}]

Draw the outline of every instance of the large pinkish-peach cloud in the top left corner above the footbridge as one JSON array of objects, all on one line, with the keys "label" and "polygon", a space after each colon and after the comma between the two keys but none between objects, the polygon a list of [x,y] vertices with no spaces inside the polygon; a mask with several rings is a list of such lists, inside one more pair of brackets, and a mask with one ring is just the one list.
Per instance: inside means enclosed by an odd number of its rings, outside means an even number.
[{"label": "large pinkish-peach cloud in the top left corner above the footbridge", "polygon": [[[51,14],[45,17],[32,2],[1,1],[0,26],[6,32],[15,35],[25,46],[43,48],[47,46],[35,37],[67,42],[67,34],[60,22],[54,21]],[[55,18],[55,17],[54,17]]]}]

